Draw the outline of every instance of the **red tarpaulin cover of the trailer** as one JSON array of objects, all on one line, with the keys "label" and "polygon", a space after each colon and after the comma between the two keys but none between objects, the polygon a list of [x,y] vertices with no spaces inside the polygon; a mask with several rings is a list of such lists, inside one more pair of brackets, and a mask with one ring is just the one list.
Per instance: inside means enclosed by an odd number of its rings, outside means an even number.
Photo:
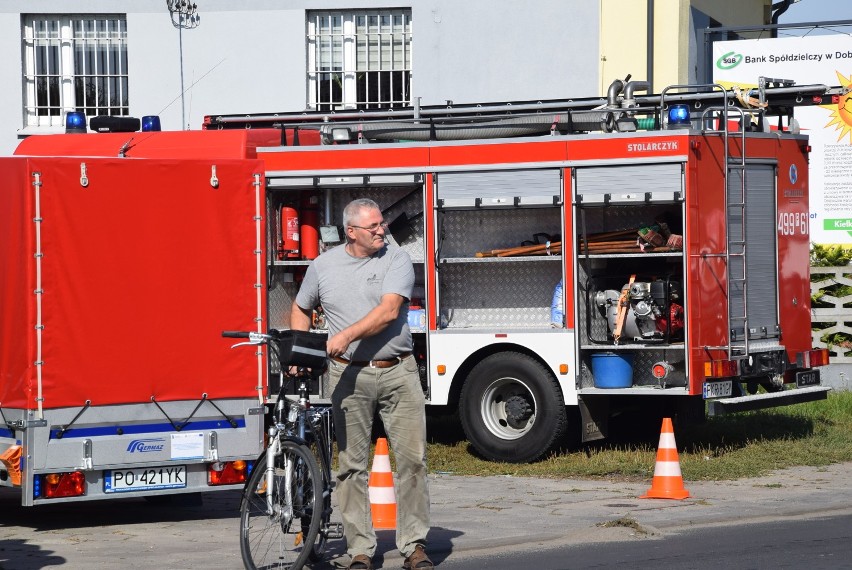
[{"label": "red tarpaulin cover of the trailer", "polygon": [[266,322],[263,168],[236,156],[250,145],[135,161],[79,140],[83,159],[0,161],[2,405],[37,408],[38,362],[45,408],[257,396],[258,371],[220,336]]}]

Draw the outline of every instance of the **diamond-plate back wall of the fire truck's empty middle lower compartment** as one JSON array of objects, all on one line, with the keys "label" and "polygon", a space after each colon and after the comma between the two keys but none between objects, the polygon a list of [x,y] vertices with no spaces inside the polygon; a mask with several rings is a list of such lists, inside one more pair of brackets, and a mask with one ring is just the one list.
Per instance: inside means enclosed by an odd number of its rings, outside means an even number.
[{"label": "diamond-plate back wall of the fire truck's empty middle lower compartment", "polygon": [[549,327],[561,269],[556,259],[441,264],[441,326]]}]

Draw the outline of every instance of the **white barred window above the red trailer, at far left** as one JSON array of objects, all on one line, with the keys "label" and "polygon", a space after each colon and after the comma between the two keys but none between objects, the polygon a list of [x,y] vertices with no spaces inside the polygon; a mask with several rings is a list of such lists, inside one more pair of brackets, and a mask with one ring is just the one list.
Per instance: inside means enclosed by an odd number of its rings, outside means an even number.
[{"label": "white barred window above the red trailer, at far left", "polygon": [[129,114],[124,16],[24,16],[22,36],[25,126]]}]

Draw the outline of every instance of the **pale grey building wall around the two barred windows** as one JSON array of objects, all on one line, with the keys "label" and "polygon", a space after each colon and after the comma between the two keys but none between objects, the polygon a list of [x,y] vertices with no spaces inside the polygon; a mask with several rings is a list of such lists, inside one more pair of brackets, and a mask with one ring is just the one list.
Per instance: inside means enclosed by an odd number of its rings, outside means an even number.
[{"label": "pale grey building wall around the two barred windows", "polygon": [[[192,129],[207,114],[304,109],[305,11],[385,6],[194,1],[200,25],[182,32]],[[412,95],[424,105],[599,95],[597,1],[409,0],[394,7],[412,10]],[[35,132],[23,125],[21,14],[126,14],[130,114],[159,114],[164,129],[181,128],[179,33],[163,0],[6,0],[0,4],[0,155]]]}]

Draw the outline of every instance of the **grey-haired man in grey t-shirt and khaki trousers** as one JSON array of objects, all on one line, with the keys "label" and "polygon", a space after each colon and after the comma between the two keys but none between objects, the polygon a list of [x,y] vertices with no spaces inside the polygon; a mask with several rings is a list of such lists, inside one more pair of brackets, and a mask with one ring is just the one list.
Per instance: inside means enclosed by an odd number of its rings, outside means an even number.
[{"label": "grey-haired man in grey t-shirt and khaki trousers", "polygon": [[367,463],[378,410],[396,459],[396,542],[406,557],[403,567],[429,569],[426,407],[408,328],[414,269],[407,253],[385,243],[387,226],[372,200],[346,206],[343,225],[346,243],[310,265],[293,302],[290,326],[308,330],[311,311],[322,305],[349,568],[372,568],[376,551]]}]

